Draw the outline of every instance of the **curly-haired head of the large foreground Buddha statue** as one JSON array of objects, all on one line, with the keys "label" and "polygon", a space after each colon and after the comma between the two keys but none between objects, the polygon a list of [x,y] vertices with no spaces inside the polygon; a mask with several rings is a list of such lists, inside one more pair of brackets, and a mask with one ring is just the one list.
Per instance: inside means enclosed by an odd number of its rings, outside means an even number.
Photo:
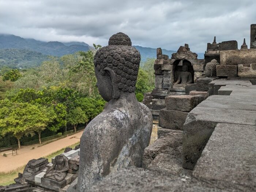
[{"label": "curly-haired head of the large foreground Buddha statue", "polygon": [[128,35],[117,33],[109,38],[109,45],[94,56],[99,94],[106,101],[135,92],[140,53],[131,45]]}]

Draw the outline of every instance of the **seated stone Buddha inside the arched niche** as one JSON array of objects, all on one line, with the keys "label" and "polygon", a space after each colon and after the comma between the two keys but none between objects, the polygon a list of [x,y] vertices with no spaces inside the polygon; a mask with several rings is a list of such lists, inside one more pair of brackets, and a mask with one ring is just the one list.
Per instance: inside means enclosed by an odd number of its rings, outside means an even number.
[{"label": "seated stone Buddha inside the arched niche", "polygon": [[188,65],[182,65],[182,71],[178,74],[178,80],[173,84],[173,88],[185,89],[186,84],[192,83],[193,77],[188,71]]}]

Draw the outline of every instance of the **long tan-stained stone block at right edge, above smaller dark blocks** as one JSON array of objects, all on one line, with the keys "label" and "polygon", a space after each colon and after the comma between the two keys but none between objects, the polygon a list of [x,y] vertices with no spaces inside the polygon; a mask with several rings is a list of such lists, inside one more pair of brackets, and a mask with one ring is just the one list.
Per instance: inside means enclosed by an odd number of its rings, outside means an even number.
[{"label": "long tan-stained stone block at right edge, above smaller dark blocks", "polygon": [[221,51],[221,65],[252,64],[255,61],[256,49]]}]

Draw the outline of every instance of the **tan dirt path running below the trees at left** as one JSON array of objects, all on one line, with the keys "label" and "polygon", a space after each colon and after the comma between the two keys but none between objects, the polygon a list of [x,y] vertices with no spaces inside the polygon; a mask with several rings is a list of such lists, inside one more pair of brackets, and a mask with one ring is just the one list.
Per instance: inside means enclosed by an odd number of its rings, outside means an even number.
[{"label": "tan dirt path running below the trees at left", "polygon": [[[38,145],[21,146],[21,149],[17,151],[18,155],[9,154],[4,157],[3,154],[0,155],[0,172],[10,172],[11,170],[21,167],[30,159],[38,159],[40,157],[45,157],[51,153],[54,153],[64,147],[75,144],[80,141],[83,131],[76,133],[74,135],[68,136],[66,138],[48,143],[41,147]],[[32,147],[35,149],[31,150]]]}]

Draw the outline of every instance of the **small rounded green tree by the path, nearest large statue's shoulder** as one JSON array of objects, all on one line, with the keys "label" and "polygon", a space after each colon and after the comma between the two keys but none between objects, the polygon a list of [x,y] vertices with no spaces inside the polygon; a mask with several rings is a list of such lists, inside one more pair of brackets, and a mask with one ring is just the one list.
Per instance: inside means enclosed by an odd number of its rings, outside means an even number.
[{"label": "small rounded green tree by the path, nearest large statue's shoulder", "polygon": [[79,123],[86,123],[88,120],[88,117],[80,107],[71,109],[67,114],[67,121],[74,127],[75,132]]}]

